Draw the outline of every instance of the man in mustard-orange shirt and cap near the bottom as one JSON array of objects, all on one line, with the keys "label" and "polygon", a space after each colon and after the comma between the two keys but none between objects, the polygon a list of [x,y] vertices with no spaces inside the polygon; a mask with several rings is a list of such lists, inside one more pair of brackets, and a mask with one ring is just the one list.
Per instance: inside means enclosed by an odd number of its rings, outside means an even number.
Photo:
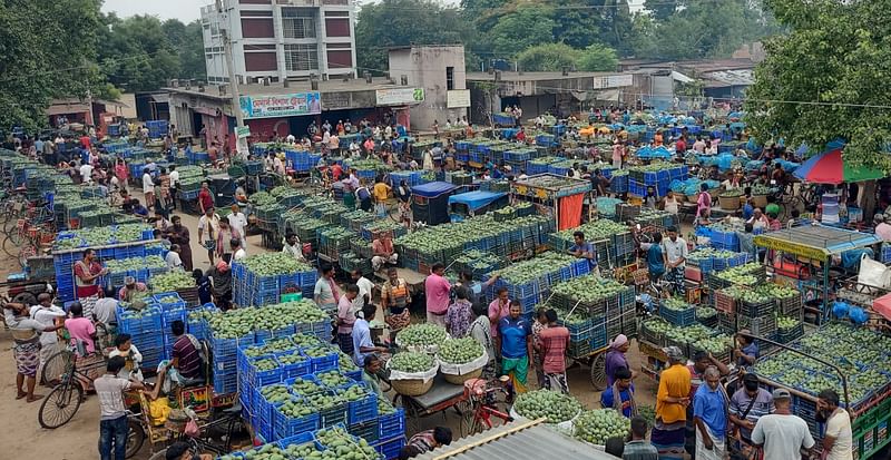
[{"label": "man in mustard-orange shirt and cap near the bottom", "polygon": [[663,352],[668,359],[668,368],[659,375],[652,441],[659,451],[659,459],[683,459],[691,376],[681,349],[666,346]]}]

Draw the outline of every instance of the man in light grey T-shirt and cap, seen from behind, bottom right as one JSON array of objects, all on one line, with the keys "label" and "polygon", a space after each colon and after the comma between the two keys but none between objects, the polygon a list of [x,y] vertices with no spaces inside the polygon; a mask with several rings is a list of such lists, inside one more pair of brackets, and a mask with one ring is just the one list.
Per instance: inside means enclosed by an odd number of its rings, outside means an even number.
[{"label": "man in light grey T-shirt and cap, seen from behind, bottom right", "polygon": [[804,420],[792,414],[792,394],[789,390],[774,390],[773,402],[776,411],[758,419],[752,430],[752,443],[763,447],[765,459],[801,458],[802,448],[814,447],[811,430]]}]

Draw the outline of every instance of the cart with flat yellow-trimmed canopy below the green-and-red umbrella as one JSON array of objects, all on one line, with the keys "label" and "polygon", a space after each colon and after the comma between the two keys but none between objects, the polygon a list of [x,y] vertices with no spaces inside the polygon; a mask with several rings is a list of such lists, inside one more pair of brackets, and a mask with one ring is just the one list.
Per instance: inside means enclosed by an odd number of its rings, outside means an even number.
[{"label": "cart with flat yellow-trimmed canopy below the green-and-red umbrella", "polygon": [[881,239],[873,234],[823,225],[792,227],[755,236],[756,246],[776,253],[765,257],[773,273],[794,280],[804,298],[811,301],[810,312],[816,314],[817,324],[828,320],[830,314],[831,291],[833,282],[838,281],[838,275],[833,275],[838,272],[832,271],[833,260],[879,243]]}]

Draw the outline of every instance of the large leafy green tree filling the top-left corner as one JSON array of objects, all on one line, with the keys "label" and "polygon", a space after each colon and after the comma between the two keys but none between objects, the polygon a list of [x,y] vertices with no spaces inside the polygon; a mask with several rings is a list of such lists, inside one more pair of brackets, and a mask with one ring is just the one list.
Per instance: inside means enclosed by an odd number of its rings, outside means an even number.
[{"label": "large leafy green tree filling the top-left corner", "polygon": [[0,3],[0,129],[47,125],[57,97],[84,97],[101,85],[94,65],[98,0]]}]

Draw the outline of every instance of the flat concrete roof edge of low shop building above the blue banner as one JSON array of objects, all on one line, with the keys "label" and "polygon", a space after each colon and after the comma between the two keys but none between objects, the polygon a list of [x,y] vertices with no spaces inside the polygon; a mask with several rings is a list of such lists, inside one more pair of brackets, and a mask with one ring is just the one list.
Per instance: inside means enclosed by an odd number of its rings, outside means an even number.
[{"label": "flat concrete roof edge of low shop building above the blue banner", "polygon": [[[204,91],[200,91],[197,86],[193,86],[189,89],[180,86],[177,88],[164,88],[165,90],[172,92],[179,92],[185,95],[193,95],[193,96],[200,96],[200,97],[208,97],[208,98],[219,98],[219,99],[229,99],[231,96],[228,94],[228,85],[222,85],[226,87],[226,94],[221,95],[219,92],[221,85],[207,85],[204,87]],[[374,91],[378,89],[393,89],[393,88],[409,88],[402,85],[391,84],[389,79],[383,77],[378,77],[372,80],[371,84],[365,82],[364,78],[359,79],[350,79],[343,81],[342,79],[332,79],[319,81],[319,92],[353,92],[353,91]],[[238,91],[242,96],[275,96],[282,95],[287,92],[306,92],[312,91],[312,86],[309,80],[303,81],[288,81],[288,87],[285,88],[284,85],[281,82],[273,82],[268,86],[266,85],[238,85]]]}]

